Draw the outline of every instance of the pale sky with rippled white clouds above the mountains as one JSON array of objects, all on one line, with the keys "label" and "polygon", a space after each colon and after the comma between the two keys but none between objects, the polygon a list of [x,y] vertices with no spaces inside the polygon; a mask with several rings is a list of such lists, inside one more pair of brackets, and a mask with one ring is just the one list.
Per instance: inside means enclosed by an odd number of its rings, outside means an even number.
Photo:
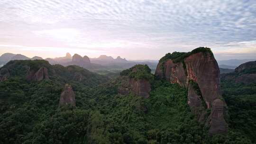
[{"label": "pale sky with rippled white clouds above the mountains", "polygon": [[256,58],[256,0],[0,0],[0,54]]}]

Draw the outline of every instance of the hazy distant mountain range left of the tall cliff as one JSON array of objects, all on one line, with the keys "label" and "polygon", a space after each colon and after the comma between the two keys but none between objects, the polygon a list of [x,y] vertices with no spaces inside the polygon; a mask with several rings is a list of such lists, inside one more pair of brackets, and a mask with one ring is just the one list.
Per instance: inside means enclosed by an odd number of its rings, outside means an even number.
[{"label": "hazy distant mountain range left of the tall cliff", "polygon": [[[0,56],[0,66],[9,62],[10,60],[42,60],[42,57],[34,56],[29,58],[22,54],[11,54],[5,53]],[[46,58],[50,64],[61,64],[67,65],[79,65],[86,69],[127,69],[136,64],[147,64],[153,71],[156,68],[157,62],[148,61],[128,61],[125,58],[118,56],[113,58],[112,56],[101,55],[98,58],[89,58],[88,56],[81,56],[79,54],[74,54],[73,56],[66,53],[64,57]]]}]

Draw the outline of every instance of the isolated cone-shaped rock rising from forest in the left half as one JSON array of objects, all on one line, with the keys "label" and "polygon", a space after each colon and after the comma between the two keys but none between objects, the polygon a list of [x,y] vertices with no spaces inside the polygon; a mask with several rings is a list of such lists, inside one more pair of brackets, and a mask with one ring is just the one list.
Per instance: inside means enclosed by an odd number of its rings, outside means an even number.
[{"label": "isolated cone-shaped rock rising from forest in the left half", "polygon": [[72,89],[72,86],[65,84],[64,91],[60,96],[60,106],[71,105],[75,107],[75,94]]}]

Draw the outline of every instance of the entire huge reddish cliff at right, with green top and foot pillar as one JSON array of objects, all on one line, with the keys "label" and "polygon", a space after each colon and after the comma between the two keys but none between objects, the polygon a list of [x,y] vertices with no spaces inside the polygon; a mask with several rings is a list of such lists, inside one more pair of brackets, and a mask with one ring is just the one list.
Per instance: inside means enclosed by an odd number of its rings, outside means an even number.
[{"label": "entire huge reddish cliff at right, with green top and foot pillar", "polygon": [[[201,122],[206,120],[206,109],[214,110],[214,100],[222,98],[219,66],[209,48],[199,47],[189,53],[166,54],[159,61],[155,75],[188,88],[188,104]],[[193,85],[197,85],[197,90]],[[224,107],[225,103],[222,103]],[[227,131],[226,125],[220,127],[224,129],[217,130],[218,132]]]}]

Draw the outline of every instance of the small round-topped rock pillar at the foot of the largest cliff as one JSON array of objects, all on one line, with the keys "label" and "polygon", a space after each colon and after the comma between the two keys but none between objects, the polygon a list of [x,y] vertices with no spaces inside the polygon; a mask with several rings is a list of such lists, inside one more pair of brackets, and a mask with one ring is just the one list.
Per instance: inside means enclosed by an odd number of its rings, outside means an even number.
[{"label": "small round-topped rock pillar at the foot of the largest cliff", "polygon": [[215,99],[212,103],[210,114],[210,134],[223,134],[228,130],[228,124],[224,119],[224,103],[220,99]]}]

